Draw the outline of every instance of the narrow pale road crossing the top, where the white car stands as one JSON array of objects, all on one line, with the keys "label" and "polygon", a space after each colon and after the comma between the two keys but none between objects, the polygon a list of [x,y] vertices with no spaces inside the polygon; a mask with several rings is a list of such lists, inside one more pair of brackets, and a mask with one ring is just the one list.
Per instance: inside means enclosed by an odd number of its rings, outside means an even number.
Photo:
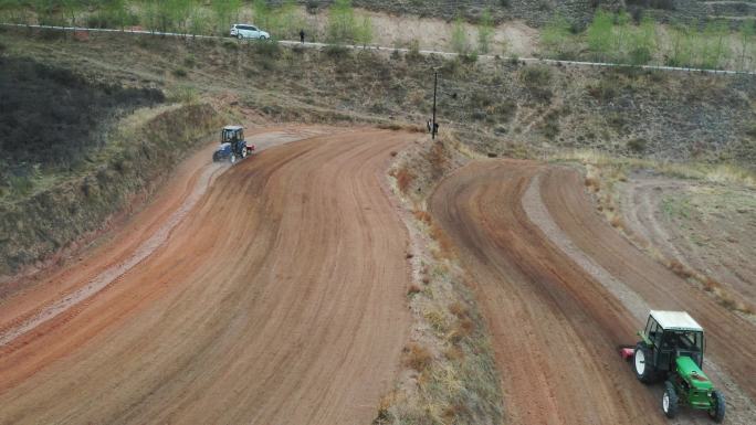
[{"label": "narrow pale road crossing the top, where the white car stands", "polygon": [[[14,28],[29,28],[29,29],[43,29],[43,30],[55,30],[55,31],[86,31],[86,32],[111,32],[111,33],[126,33],[126,34],[144,34],[144,35],[160,35],[160,36],[176,36],[182,39],[214,39],[214,40],[229,40],[227,36],[219,35],[195,35],[195,34],[181,34],[177,32],[158,32],[158,31],[145,31],[145,30],[115,30],[107,28],[83,28],[83,26],[55,26],[55,25],[31,25],[25,23],[0,23],[0,26],[14,26]],[[305,42],[301,43],[298,41],[291,40],[280,40],[276,43],[282,45],[303,45],[305,47],[326,47],[334,44],[327,43],[313,43]],[[403,47],[385,47],[377,45],[355,45],[355,44],[339,44],[343,47],[353,50],[375,50],[375,51],[388,51],[388,52],[402,52],[408,53],[409,49]],[[440,55],[447,57],[459,56],[459,53],[452,52],[441,52],[433,50],[420,50],[420,54],[424,55]],[[483,60],[494,60],[497,56],[494,55],[479,55],[479,59]],[[510,56],[498,56],[504,61],[512,61],[515,57]],[[519,62],[539,62],[554,65],[576,65],[576,66],[597,66],[597,67],[626,67],[626,68],[640,68],[640,70],[652,70],[652,71],[671,71],[671,72],[687,72],[687,73],[703,73],[703,74],[724,74],[724,75],[756,75],[754,71],[732,71],[732,70],[706,70],[706,68],[695,68],[695,67],[682,67],[682,66],[662,66],[662,65],[631,65],[622,63],[608,63],[608,62],[584,62],[584,61],[560,61],[553,59],[540,59],[540,57],[516,57]]]}]

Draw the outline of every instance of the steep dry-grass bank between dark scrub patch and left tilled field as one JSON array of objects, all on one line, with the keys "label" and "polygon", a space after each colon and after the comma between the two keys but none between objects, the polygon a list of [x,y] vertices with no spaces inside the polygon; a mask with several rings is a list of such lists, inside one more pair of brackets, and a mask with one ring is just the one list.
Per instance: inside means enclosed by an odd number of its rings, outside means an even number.
[{"label": "steep dry-grass bank between dark scrub patch and left tilled field", "polygon": [[[133,212],[219,124],[208,104],[145,108],[124,118],[85,170],[0,204],[0,275],[49,259]],[[12,290],[0,287],[0,296]]]}]

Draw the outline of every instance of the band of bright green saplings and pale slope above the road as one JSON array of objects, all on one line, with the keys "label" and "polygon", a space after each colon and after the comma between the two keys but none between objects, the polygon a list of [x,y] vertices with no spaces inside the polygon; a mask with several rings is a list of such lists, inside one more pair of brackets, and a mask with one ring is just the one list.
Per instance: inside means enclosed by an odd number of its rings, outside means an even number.
[{"label": "band of bright green saplings and pale slope above the road", "polygon": [[[329,43],[414,44],[463,54],[526,54],[632,65],[756,68],[756,7],[749,1],[72,0],[65,7],[44,4],[49,3],[0,2],[0,20],[214,35],[228,35],[234,22],[254,22],[273,39],[283,40],[297,39],[304,29],[307,41]],[[393,22],[386,13],[393,14]]]}]

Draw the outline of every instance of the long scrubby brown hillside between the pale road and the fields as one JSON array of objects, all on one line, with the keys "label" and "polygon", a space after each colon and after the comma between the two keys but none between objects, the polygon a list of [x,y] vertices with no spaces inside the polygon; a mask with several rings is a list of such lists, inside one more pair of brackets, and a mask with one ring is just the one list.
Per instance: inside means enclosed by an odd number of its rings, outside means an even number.
[{"label": "long scrubby brown hillside between the pale road and the fields", "polygon": [[[482,152],[543,156],[598,149],[658,160],[756,161],[752,76],[524,65],[417,53],[283,49],[275,44],[94,35],[54,47],[25,35],[6,43],[28,55],[90,68],[106,63],[129,78],[233,95],[275,119],[385,120],[422,125],[439,73],[442,130]],[[66,66],[69,66],[66,65]]]}]

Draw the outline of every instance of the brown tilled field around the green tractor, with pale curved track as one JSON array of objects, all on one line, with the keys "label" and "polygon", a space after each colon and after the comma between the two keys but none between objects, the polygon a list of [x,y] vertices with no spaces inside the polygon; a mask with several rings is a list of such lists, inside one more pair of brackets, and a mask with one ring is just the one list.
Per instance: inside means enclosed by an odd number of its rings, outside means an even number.
[{"label": "brown tilled field around the green tractor, with pale curved track", "polygon": [[[476,281],[511,421],[665,423],[659,385],[637,382],[617,352],[654,308],[699,319],[708,336],[704,369],[728,399],[727,422],[756,422],[756,329],[622,238],[581,183],[568,168],[479,161],[431,200]],[[708,419],[685,411],[679,422]]]}]

